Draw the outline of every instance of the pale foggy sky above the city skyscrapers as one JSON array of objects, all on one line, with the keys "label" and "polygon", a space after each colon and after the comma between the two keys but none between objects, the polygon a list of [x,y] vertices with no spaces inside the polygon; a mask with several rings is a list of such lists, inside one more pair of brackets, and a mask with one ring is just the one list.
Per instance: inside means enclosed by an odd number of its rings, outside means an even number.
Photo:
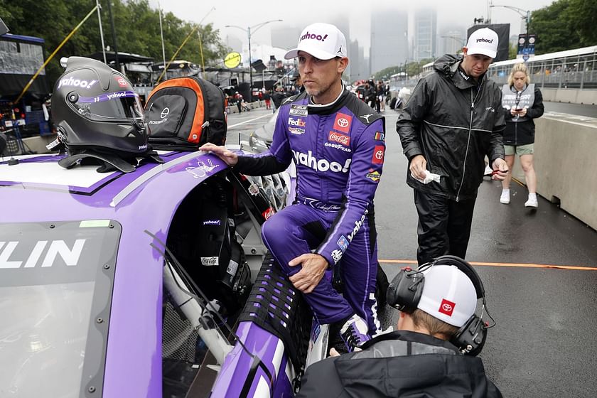
[{"label": "pale foggy sky above the city skyscrapers", "polygon": [[[271,19],[283,19],[283,22],[270,23],[260,28],[252,35],[253,44],[271,44],[270,26],[284,26],[290,24],[303,28],[309,23],[326,22],[326,18],[349,18],[350,39],[358,39],[360,45],[368,50],[370,45],[370,6],[365,1],[338,0],[227,0],[227,1],[193,1],[193,0],[149,0],[151,6],[157,8],[158,1],[163,11],[170,11],[185,21],[199,22],[210,9],[215,10],[205,18],[203,23],[213,23],[220,30],[220,38],[227,35],[235,36],[247,43],[247,33],[237,28],[225,28],[226,25],[238,25],[243,28],[254,26]],[[443,26],[462,26],[468,28],[473,25],[473,18],[488,16],[488,2],[483,0],[451,0],[431,1],[419,0],[374,0],[372,7],[376,9],[392,9],[414,11],[414,7],[431,7],[437,11],[438,34]],[[533,11],[548,6],[552,0],[493,0],[493,4],[514,6],[525,11]],[[490,10],[493,23],[510,23],[510,35],[521,32],[522,18],[515,11],[505,8]],[[409,20],[409,29],[412,21]],[[524,27],[524,24],[522,25]],[[409,36],[414,31],[409,32]],[[348,38],[347,38],[348,39]]]}]

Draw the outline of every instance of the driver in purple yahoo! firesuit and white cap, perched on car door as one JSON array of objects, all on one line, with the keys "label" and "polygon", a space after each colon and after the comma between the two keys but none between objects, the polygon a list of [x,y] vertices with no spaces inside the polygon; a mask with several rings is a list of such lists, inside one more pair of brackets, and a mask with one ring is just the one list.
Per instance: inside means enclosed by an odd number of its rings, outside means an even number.
[{"label": "driver in purple yahoo! firesuit and white cap, perched on car door", "polygon": [[[269,151],[238,156],[224,146],[200,149],[256,176],[284,171],[294,159],[295,203],[269,218],[262,236],[292,284],[305,294],[318,322],[339,328],[353,351],[380,327],[373,198],[382,174],[385,134],[384,118],[343,85],[346,50],[345,37],[335,26],[307,26],[297,48],[286,53],[286,59],[298,57],[306,92],[281,105]],[[343,295],[333,289],[333,267],[340,269]]]}]

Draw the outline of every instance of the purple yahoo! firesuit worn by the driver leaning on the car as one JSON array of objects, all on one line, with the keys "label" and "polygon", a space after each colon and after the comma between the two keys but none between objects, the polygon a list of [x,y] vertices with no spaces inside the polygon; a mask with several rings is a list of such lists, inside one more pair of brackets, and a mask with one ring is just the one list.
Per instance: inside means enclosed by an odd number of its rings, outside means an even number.
[{"label": "purple yahoo! firesuit worn by the driver leaning on the car", "polygon": [[[326,105],[312,104],[302,93],[281,105],[269,151],[240,156],[235,166],[241,173],[267,175],[284,171],[294,160],[295,203],[264,223],[264,243],[289,276],[301,270],[288,265],[301,254],[314,249],[326,258],[326,275],[305,295],[313,313],[319,323],[357,313],[371,334],[379,329],[373,197],[384,139],[384,118],[348,90]],[[332,286],[335,266],[345,285],[343,296]]]}]

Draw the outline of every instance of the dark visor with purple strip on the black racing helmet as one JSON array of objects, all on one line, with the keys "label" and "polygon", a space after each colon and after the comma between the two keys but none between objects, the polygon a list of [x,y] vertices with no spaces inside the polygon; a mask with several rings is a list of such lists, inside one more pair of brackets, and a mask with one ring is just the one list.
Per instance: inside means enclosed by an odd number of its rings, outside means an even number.
[{"label": "dark visor with purple strip on the black racing helmet", "polygon": [[79,97],[74,103],[77,112],[92,119],[143,120],[143,107],[134,91],[108,92],[97,97]]}]

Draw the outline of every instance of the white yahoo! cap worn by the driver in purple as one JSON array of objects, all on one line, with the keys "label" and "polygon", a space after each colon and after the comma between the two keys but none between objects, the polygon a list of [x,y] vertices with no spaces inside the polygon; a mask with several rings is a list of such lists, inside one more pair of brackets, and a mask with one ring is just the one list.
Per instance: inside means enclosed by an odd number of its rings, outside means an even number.
[{"label": "white yahoo! cap worn by the driver in purple", "polygon": [[320,60],[345,57],[346,38],[340,29],[330,23],[312,23],[299,36],[296,48],[286,53],[284,58],[287,60],[296,58],[298,51],[304,51]]}]

